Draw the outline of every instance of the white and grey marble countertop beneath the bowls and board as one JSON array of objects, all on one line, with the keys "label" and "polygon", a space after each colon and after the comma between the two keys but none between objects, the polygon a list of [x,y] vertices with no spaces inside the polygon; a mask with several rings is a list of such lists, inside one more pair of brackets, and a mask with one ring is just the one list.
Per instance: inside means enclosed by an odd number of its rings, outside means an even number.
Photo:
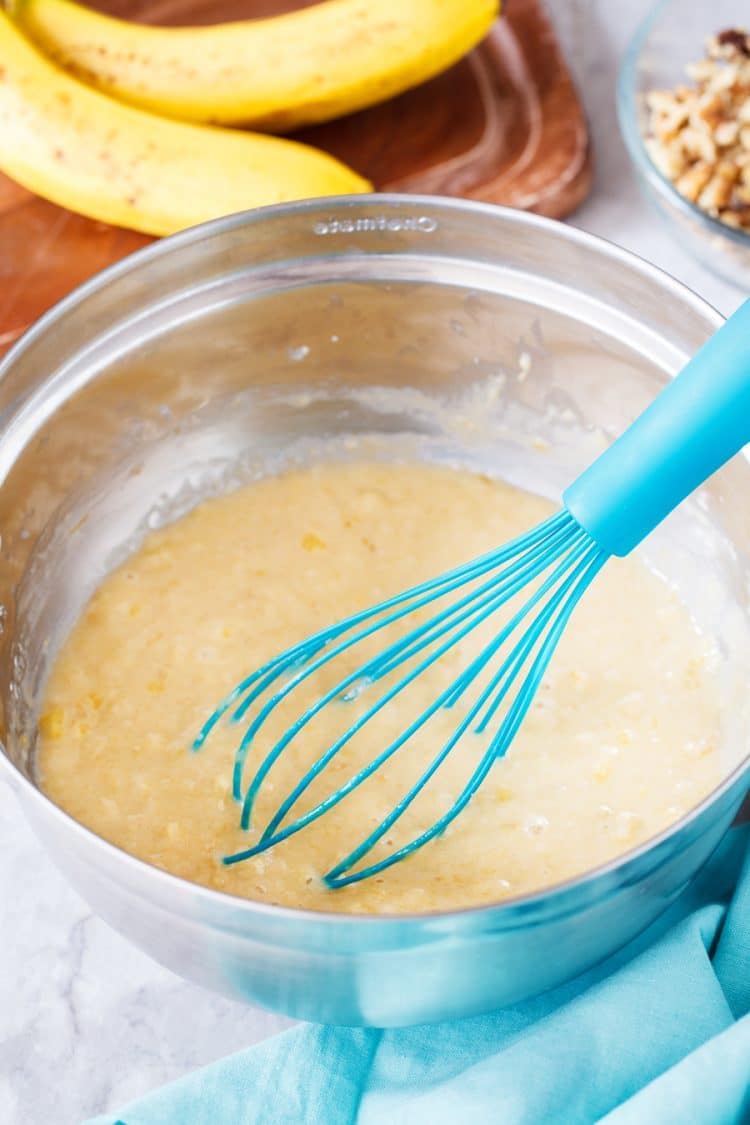
[{"label": "white and grey marble countertop beneath the bowls and board", "polygon": [[[620,140],[617,60],[647,6],[554,4],[596,156],[594,190],[572,222],[650,259],[729,313],[742,294],[660,228]],[[108,929],[63,882],[2,783],[0,903],[2,1125],[75,1125],[288,1025],[184,983]]]}]

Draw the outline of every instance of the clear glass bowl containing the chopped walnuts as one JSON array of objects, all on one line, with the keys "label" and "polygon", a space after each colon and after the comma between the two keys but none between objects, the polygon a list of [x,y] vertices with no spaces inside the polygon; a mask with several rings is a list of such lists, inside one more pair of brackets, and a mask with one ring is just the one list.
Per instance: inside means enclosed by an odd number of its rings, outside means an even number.
[{"label": "clear glass bowl containing the chopped walnuts", "polygon": [[726,281],[750,287],[750,234],[712,218],[679,194],[649,155],[645,94],[688,81],[687,63],[703,57],[706,39],[728,27],[750,28],[747,0],[661,0],[625,52],[617,79],[620,127],[647,198],[675,237]]}]

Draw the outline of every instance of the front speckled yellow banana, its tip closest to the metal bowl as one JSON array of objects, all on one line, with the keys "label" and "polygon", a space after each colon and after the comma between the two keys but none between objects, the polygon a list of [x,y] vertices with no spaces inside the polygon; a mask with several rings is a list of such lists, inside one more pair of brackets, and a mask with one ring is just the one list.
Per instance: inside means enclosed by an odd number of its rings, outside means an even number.
[{"label": "front speckled yellow banana, its tip closest to the metal bowl", "polygon": [[40,55],[0,11],[0,170],[53,202],[147,234],[370,190],[333,156],[123,106]]}]

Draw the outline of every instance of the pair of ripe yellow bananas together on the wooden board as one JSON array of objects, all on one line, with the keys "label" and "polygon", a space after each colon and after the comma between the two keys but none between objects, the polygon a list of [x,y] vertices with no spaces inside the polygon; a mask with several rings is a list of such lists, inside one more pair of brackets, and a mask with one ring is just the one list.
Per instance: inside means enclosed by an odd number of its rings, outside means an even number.
[{"label": "pair of ripe yellow bananas together on the wooden board", "polygon": [[385,100],[478,43],[498,0],[327,0],[200,28],[129,24],[73,0],[7,7],[0,170],[92,218],[169,234],[370,190],[310,146],[219,126],[283,130]]}]

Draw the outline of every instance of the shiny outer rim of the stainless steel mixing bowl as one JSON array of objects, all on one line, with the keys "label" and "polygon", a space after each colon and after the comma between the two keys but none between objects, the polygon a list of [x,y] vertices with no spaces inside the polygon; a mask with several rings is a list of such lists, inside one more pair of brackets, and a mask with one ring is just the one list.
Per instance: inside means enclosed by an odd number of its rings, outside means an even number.
[{"label": "shiny outer rim of the stainless steel mixing bowl", "polygon": [[[528,212],[521,212],[515,208],[500,207],[495,204],[455,199],[443,196],[394,192],[373,192],[367,196],[332,196],[317,199],[306,199],[291,204],[277,204],[270,207],[255,208],[247,212],[238,212],[233,215],[189,227],[186,231],[163,237],[151,245],[126,255],[114,264],[98,271],[85,282],[78,286],[66,297],[53,305],[25,333],[22,333],[22,335],[9,349],[2,361],[0,361],[0,380],[8,377],[16,359],[20,357],[24,351],[37,340],[37,338],[44,335],[51,328],[54,330],[58,320],[66,316],[78,305],[82,304],[90,295],[96,294],[98,290],[105,288],[114,281],[117,281],[119,278],[127,276],[127,273],[134,270],[147,267],[154,259],[169,255],[173,252],[179,252],[182,248],[198,243],[202,238],[213,237],[217,234],[231,232],[240,227],[252,226],[255,223],[262,223],[270,217],[300,215],[306,213],[314,215],[319,213],[322,209],[331,210],[333,208],[338,210],[355,210],[361,208],[371,208],[373,206],[385,206],[397,209],[430,207],[433,210],[442,209],[449,214],[470,213],[479,217],[485,217],[489,220],[493,220],[494,218],[503,218],[506,222],[509,220],[521,227],[546,231],[548,233],[554,234],[555,237],[562,237],[569,243],[594,250],[597,253],[609,258],[617,264],[626,266],[636,274],[640,273],[641,276],[658,282],[663,289],[671,292],[674,296],[679,297],[687,306],[693,306],[696,312],[701,312],[704,316],[707,316],[707,318],[712,321],[716,327],[719,327],[724,321],[722,314],[719,313],[719,310],[715,309],[708,302],[699,297],[693,289],[689,288],[689,286],[677,280],[666,270],[653,266],[639,254],[617,245],[617,243],[611,242],[599,235],[589,234],[586,231],[569,226],[568,224],[561,223],[557,219],[546,218]],[[9,413],[12,413],[12,404]],[[1,434],[0,441],[2,441]],[[750,453],[741,453],[740,456],[744,456],[748,460],[750,460]],[[289,907],[256,901],[238,894],[232,894],[227,891],[220,891],[215,888],[206,886],[201,883],[191,882],[181,875],[175,875],[162,867],[157,867],[146,860],[142,860],[138,856],[126,852],[124,848],[120,848],[118,845],[105,839],[105,837],[99,836],[96,831],[93,831],[93,829],[76,820],[73,816],[56,804],[52,798],[44,792],[44,790],[35,785],[34,782],[26,776],[20,766],[12,762],[8,756],[4,744],[0,742],[0,773],[3,771],[10,789],[16,792],[20,800],[24,811],[26,800],[31,800],[37,802],[37,804],[42,804],[44,809],[51,813],[66,831],[72,831],[76,837],[82,839],[84,845],[88,845],[93,854],[103,850],[103,853],[110,856],[116,863],[125,865],[126,868],[133,871],[136,875],[139,875],[143,880],[145,880],[145,883],[142,884],[144,888],[147,884],[154,888],[159,888],[161,885],[164,886],[165,890],[172,891],[175,896],[189,894],[191,901],[196,901],[198,899],[206,902],[208,906],[213,904],[224,907],[225,909],[229,908],[234,912],[233,917],[235,918],[238,916],[259,918],[265,917],[271,921],[288,921],[302,926],[335,925],[336,929],[340,932],[342,929],[346,929],[347,927],[356,927],[358,930],[361,930],[364,925],[373,929],[378,927],[386,927],[389,933],[392,933],[394,929],[398,927],[418,927],[424,930],[428,930],[434,929],[434,927],[441,927],[441,925],[445,922],[463,921],[469,924],[472,920],[480,920],[488,917],[491,918],[493,921],[499,921],[503,916],[508,919],[509,925],[507,928],[516,928],[519,924],[519,914],[522,915],[523,920],[527,920],[528,922],[532,921],[532,917],[534,921],[539,920],[540,915],[543,915],[545,918],[548,916],[559,917],[560,915],[570,912],[573,908],[577,909],[577,904],[575,903],[576,896],[579,896],[581,892],[587,890],[590,891],[596,883],[602,885],[602,891],[599,894],[591,894],[589,901],[598,901],[602,897],[604,897],[607,893],[607,876],[617,876],[621,885],[631,883],[630,876],[634,874],[634,868],[641,865],[643,861],[650,858],[652,861],[651,865],[648,866],[645,871],[641,870],[639,874],[640,881],[645,874],[658,865],[658,852],[662,845],[671,842],[689,825],[707,813],[720,802],[721,798],[725,793],[738,785],[743,775],[750,775],[750,752],[720,781],[714,789],[711,790],[710,793],[704,796],[698,804],[689,809],[683,817],[674,821],[671,825],[668,825],[657,835],[649,837],[638,846],[614,856],[612,860],[599,864],[596,867],[588,868],[577,875],[549,884],[531,893],[513,896],[498,901],[482,902],[477,906],[459,907],[453,910],[440,909],[421,911],[418,914],[354,914],[344,911],[310,910],[300,907]],[[143,892],[139,891],[138,893]],[[513,922],[510,922],[512,919]]]}]

